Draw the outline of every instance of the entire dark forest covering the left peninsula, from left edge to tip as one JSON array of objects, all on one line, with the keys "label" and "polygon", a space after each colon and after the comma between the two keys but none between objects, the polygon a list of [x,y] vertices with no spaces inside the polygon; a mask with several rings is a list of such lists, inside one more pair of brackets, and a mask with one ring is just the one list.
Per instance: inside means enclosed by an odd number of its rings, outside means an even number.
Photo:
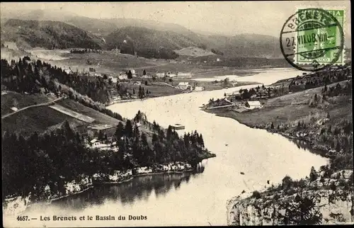
[{"label": "entire dark forest covering the left peninsula, from left edge to tip", "polygon": [[[141,120],[137,113],[134,121]],[[3,198],[8,195],[28,195],[34,198],[43,196],[45,186],[49,185],[52,195],[64,191],[64,183],[80,176],[93,173],[113,173],[139,166],[154,166],[171,161],[188,161],[196,165],[207,153],[202,135],[198,132],[178,137],[171,127],[163,130],[159,125],[148,123],[154,131],[152,142],[133,122],[120,122],[115,137],[119,152],[99,151],[85,147],[88,139],[74,132],[69,122],[61,128],[29,138],[5,132],[2,135]]]}]

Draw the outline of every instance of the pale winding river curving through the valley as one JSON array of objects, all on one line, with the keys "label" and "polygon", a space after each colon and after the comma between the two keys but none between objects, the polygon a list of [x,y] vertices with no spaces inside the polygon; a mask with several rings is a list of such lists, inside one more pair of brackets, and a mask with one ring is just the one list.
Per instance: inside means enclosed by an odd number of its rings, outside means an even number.
[{"label": "pale winding river curving through the valley", "polygon": [[[281,69],[279,69],[281,71]],[[282,78],[296,76],[283,72]],[[278,74],[277,74],[278,75]],[[263,76],[264,78],[264,76]],[[278,80],[259,80],[269,84]],[[254,86],[254,85],[253,85]],[[253,86],[242,86],[251,88]],[[130,103],[117,103],[110,110],[133,118],[138,110],[162,127],[173,123],[185,125],[183,132],[198,130],[205,146],[217,157],[202,161],[195,174],[141,176],[118,185],[95,186],[90,190],[59,200],[52,205],[35,205],[28,215],[74,215],[73,222],[40,222],[47,227],[110,227],[161,225],[226,225],[226,203],[242,190],[261,190],[267,181],[280,183],[285,175],[292,178],[309,176],[311,166],[319,169],[327,160],[299,149],[296,144],[277,134],[252,129],[236,120],[205,113],[199,106],[210,98],[239,88],[201,91],[152,98]],[[226,145],[228,144],[228,146]],[[242,175],[240,172],[243,172]],[[86,220],[80,221],[79,216]],[[87,215],[123,215],[125,221],[87,221]],[[147,216],[147,220],[128,220],[129,215]],[[31,222],[28,223],[30,226]],[[27,224],[21,224],[27,226]]]}]

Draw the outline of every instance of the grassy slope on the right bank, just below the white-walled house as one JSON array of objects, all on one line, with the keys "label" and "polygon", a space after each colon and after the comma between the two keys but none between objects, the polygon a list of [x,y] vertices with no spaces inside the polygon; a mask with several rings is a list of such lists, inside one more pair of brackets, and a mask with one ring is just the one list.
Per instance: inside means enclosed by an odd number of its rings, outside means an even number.
[{"label": "grassy slope on the right bank, just below the white-walled house", "polygon": [[[345,84],[342,81],[341,84]],[[334,86],[332,84],[330,86]],[[352,104],[350,97],[338,96],[329,98],[327,107],[310,107],[309,101],[316,93],[321,94],[322,87],[290,93],[278,98],[271,98],[265,101],[264,108],[251,110],[244,113],[237,113],[227,108],[214,109],[208,112],[217,113],[217,115],[234,118],[242,124],[250,127],[269,127],[273,122],[275,127],[278,125],[297,125],[298,121],[310,121],[312,117],[315,119],[325,118],[329,113],[331,121],[336,122],[339,119],[350,119],[352,116]],[[315,125],[314,125],[315,126]],[[317,129],[314,129],[317,130]]]}]

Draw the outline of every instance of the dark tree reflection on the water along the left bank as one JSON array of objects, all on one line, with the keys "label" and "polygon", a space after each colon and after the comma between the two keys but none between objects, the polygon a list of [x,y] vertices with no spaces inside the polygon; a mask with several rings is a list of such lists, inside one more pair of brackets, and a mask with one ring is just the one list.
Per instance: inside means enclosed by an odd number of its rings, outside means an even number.
[{"label": "dark tree reflection on the water along the left bank", "polygon": [[137,176],[119,184],[96,184],[84,193],[56,200],[52,205],[69,210],[84,210],[93,205],[103,205],[107,201],[134,205],[135,201],[147,201],[151,194],[156,195],[156,198],[163,198],[171,188],[178,190],[183,182],[188,183],[190,178],[197,178],[204,169],[205,166],[200,163],[193,172]]}]

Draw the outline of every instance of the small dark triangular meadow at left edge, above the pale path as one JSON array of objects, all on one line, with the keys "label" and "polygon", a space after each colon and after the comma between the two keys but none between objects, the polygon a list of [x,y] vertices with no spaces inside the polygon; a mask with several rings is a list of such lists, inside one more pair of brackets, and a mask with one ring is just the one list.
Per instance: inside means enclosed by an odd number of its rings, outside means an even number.
[{"label": "small dark triangular meadow at left edge, above the pale path", "polygon": [[11,107],[20,109],[53,100],[55,100],[53,96],[45,96],[42,94],[25,95],[13,91],[6,91],[6,94],[1,96],[1,115],[13,113],[13,110],[10,109]]}]

